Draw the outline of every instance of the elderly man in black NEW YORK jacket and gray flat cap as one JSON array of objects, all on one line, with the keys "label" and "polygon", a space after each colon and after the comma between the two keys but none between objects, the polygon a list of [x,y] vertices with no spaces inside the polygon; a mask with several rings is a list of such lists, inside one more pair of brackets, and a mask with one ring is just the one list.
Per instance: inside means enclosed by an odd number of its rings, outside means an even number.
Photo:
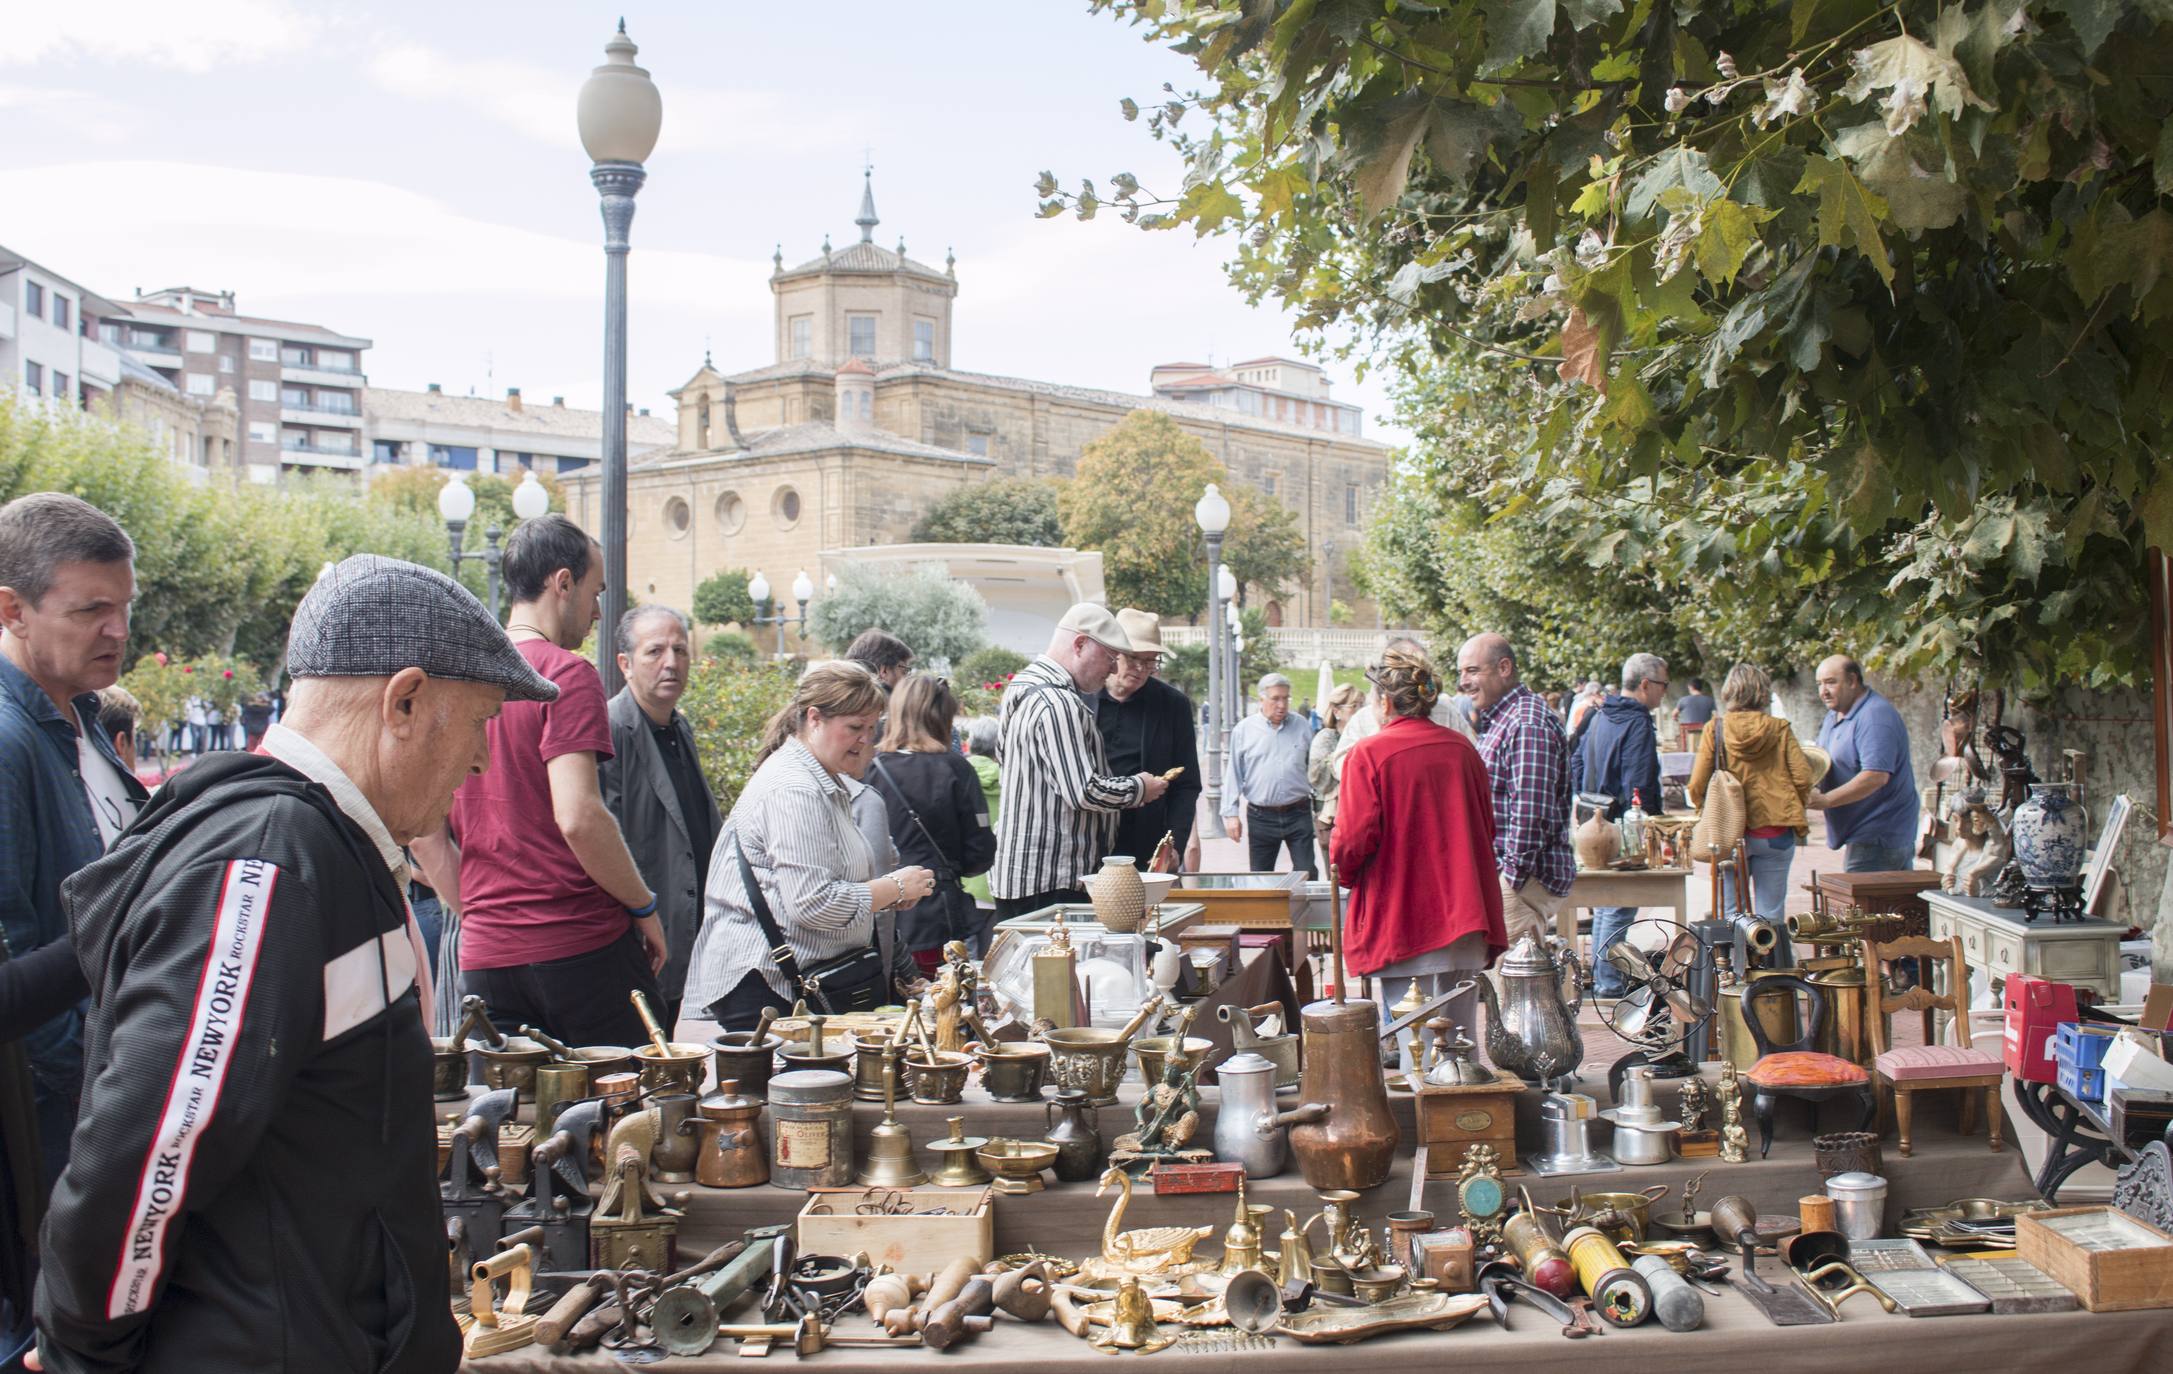
[{"label": "elderly man in black NEW YORK jacket and gray flat cap", "polygon": [[287,672],[263,752],[198,761],[63,887],[93,1009],[46,1370],[459,1365],[402,846],[500,704],[558,689],[459,583],[372,554],[311,587]]}]

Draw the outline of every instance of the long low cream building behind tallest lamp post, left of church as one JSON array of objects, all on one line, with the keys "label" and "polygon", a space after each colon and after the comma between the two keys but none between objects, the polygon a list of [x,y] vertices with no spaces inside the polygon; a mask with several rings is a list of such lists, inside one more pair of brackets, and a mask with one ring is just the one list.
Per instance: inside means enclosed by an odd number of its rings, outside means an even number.
[{"label": "long low cream building behind tallest lamp post, left of church", "polygon": [[[450,467],[456,472],[571,474],[604,457],[602,411],[580,411],[552,396],[550,404],[528,404],[519,387],[504,400],[450,396],[437,383],[422,391],[367,387],[363,391],[363,439],[369,472],[385,467]],[[641,457],[671,448],[678,428],[645,409],[626,417],[626,454]]]}]

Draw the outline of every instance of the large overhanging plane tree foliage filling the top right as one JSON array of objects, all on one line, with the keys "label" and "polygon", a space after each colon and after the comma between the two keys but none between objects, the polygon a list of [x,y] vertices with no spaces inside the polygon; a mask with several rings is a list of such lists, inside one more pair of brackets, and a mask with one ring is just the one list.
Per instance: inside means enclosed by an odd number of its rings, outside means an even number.
[{"label": "large overhanging plane tree foliage filling the top right", "polygon": [[1317,339],[1523,372],[1471,474],[1497,515],[1764,583],[1897,670],[2140,676],[2173,7],[1095,7],[1206,76],[1126,100],[1189,170],[1108,204],[1241,237],[1236,285]]}]

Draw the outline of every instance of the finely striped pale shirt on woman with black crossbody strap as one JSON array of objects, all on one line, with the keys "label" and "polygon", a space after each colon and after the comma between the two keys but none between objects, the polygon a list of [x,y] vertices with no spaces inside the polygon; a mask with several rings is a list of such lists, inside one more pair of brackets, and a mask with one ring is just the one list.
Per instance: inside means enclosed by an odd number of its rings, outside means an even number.
[{"label": "finely striped pale shirt on woman with black crossbody strap", "polygon": [[800,996],[769,959],[732,837],[748,846],[748,867],[802,972],[874,944],[867,885],[876,857],[852,822],[845,785],[804,744],[787,739],[748,778],[711,852],[702,933],[687,967],[687,1009],[695,1015],[739,987],[748,970],[761,970],[780,998]]}]

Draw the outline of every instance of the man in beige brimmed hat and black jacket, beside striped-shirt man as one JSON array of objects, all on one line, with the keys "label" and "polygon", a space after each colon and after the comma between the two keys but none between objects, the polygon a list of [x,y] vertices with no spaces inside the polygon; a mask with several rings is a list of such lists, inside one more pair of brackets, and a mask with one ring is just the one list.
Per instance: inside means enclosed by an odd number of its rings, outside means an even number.
[{"label": "man in beige brimmed hat and black jacket, beside striped-shirt man", "polygon": [[1117,611],[1117,624],[1132,652],[1117,654],[1108,683],[1093,696],[1102,748],[1117,772],[1176,774],[1169,794],[1117,817],[1113,854],[1130,854],[1141,867],[1154,859],[1167,835],[1182,854],[1193,837],[1199,807],[1199,737],[1193,733],[1193,698],[1154,676],[1163,665],[1163,622],[1152,611]]}]

